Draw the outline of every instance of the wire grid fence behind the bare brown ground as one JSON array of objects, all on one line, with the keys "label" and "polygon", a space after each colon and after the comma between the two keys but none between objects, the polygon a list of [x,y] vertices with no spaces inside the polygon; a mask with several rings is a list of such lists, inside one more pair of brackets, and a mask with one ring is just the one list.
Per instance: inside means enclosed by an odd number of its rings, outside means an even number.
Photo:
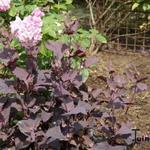
[{"label": "wire grid fence behind the bare brown ground", "polygon": [[[119,14],[117,14],[118,16]],[[116,17],[117,17],[116,16]],[[110,41],[115,49],[150,52],[150,29],[141,27],[148,23],[150,12],[131,12],[115,31],[110,31]]]}]

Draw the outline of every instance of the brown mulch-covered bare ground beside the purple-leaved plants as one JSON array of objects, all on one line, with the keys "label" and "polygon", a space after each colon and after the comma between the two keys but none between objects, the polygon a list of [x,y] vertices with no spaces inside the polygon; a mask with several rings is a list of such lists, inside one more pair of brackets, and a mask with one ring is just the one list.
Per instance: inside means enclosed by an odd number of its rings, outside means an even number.
[{"label": "brown mulch-covered bare ground beside the purple-leaved plants", "polygon": [[[129,65],[136,66],[137,71],[141,76],[148,77],[146,83],[148,91],[136,98],[136,105],[129,109],[129,117],[134,127],[140,129],[138,136],[149,135],[150,137],[150,54],[144,53],[111,53],[100,52],[98,54],[99,62],[91,71],[91,77],[88,84],[92,87],[100,87],[101,81],[97,76],[106,73],[105,69],[112,63],[112,66],[118,72],[123,72]],[[143,142],[141,145],[136,145],[134,150],[150,150],[150,141]]]}]

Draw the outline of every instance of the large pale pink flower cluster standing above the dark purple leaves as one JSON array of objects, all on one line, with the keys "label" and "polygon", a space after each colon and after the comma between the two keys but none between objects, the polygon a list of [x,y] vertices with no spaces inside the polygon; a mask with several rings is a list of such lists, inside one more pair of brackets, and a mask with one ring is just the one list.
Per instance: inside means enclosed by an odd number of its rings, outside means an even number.
[{"label": "large pale pink flower cluster standing above the dark purple leaves", "polygon": [[10,23],[12,34],[27,49],[36,46],[42,39],[42,16],[44,16],[44,13],[39,8],[36,8],[31,15],[23,20],[17,16],[16,20]]}]

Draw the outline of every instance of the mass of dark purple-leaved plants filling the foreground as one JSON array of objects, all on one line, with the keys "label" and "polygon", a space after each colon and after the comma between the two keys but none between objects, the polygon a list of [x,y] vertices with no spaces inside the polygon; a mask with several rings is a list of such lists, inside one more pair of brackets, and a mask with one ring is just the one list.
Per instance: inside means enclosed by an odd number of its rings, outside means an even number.
[{"label": "mass of dark purple-leaved plants filling the foreground", "polygon": [[[74,34],[78,22],[66,24],[64,33]],[[72,50],[58,41],[47,41],[45,46],[53,52],[51,68],[45,70],[39,69],[37,51],[34,53],[30,45],[25,68],[17,65],[16,50],[0,52],[0,61],[11,72],[11,78],[0,79],[0,147],[121,150],[132,144],[130,124],[120,123],[115,111],[130,106],[127,91],[136,94],[146,90],[142,83],[145,78],[130,71],[117,75],[110,70],[109,77],[99,76],[105,87],[91,89],[81,69],[95,63],[95,57],[86,58],[79,46]],[[81,59],[80,67],[72,67],[77,58]],[[127,78],[132,82],[130,88],[126,86]],[[118,139],[122,142],[118,143]]]}]

